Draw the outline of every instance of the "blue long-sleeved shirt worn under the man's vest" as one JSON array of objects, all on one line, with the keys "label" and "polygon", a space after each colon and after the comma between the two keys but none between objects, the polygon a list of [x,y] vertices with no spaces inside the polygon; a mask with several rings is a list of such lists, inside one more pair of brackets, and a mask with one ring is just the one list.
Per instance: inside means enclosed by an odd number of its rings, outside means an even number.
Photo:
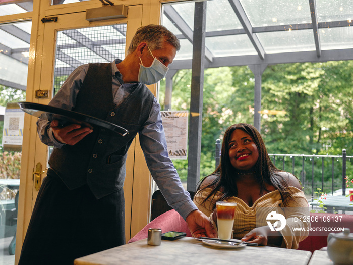
[{"label": "blue long-sleeved shirt worn under the man's vest", "polygon": [[[133,86],[124,84],[122,75],[116,67],[121,60],[115,59],[111,63],[112,92],[114,104],[119,106],[131,93]],[[86,77],[89,64],[76,68],[66,79],[60,90],[56,93],[48,105],[72,110],[76,104],[76,98],[83,80]],[[64,144],[56,141],[53,136],[50,122],[44,119],[37,121],[37,131],[40,140],[49,146],[61,148]],[[184,190],[177,170],[171,162],[162,125],[160,104],[154,98],[153,106],[146,124],[139,131],[139,139],[142,151],[153,179],[157,183],[168,204],[186,219],[191,211],[197,207],[190,199],[189,193]]]}]

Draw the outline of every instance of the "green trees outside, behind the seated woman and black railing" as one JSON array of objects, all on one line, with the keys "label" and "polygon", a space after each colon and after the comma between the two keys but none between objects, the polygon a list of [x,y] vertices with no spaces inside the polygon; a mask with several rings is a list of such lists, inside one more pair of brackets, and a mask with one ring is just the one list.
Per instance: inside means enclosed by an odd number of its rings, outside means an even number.
[{"label": "green trees outside, behind the seated woman and black railing", "polygon": [[[262,114],[261,134],[269,153],[347,155],[353,153],[353,61],[296,63],[268,66],[262,76],[262,110],[285,114]],[[254,74],[247,66],[206,69],[204,72],[201,173],[214,171],[215,141],[222,140],[227,127],[234,123],[254,122]],[[164,81],[161,88],[165,87]],[[180,70],[173,78],[172,110],[190,110],[191,70]],[[164,108],[164,90],[160,102]],[[304,179],[307,193],[314,186],[324,192],[332,189],[332,160],[305,159],[304,172],[296,158],[295,175]],[[286,158],[285,170],[292,172]],[[187,176],[187,161],[174,161],[182,179]],[[278,162],[278,163],[283,163]],[[282,165],[277,163],[277,167]],[[334,161],[334,189],[341,188],[341,160]],[[353,171],[347,161],[347,172]]]}]

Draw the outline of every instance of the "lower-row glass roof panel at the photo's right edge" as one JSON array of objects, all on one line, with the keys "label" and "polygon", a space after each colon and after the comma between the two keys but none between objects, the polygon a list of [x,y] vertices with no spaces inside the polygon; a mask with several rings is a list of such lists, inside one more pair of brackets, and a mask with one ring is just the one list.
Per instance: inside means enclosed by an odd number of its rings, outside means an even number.
[{"label": "lower-row glass roof panel at the photo's right edge", "polygon": [[353,27],[319,29],[321,49],[353,48]]}]

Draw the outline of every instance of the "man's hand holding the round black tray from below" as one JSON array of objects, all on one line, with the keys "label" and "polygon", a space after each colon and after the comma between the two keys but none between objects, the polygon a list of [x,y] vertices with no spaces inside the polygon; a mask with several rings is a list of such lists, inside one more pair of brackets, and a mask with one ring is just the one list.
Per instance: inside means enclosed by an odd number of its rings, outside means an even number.
[{"label": "man's hand holding the round black tray from below", "polygon": [[88,127],[81,128],[80,124],[70,124],[65,127],[58,127],[59,121],[53,120],[50,123],[51,130],[57,141],[68,145],[74,145],[81,141],[87,134],[93,132]]}]

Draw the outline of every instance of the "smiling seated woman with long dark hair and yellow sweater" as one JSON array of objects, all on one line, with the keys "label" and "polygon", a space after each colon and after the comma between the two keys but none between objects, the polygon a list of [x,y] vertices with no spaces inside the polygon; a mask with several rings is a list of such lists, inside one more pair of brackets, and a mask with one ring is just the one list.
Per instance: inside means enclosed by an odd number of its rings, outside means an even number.
[{"label": "smiling seated woman with long dark hair and yellow sweater", "polygon": [[[194,197],[214,225],[216,201],[237,203],[233,238],[297,249],[308,236],[308,231],[293,231],[310,226],[303,222],[309,207],[299,180],[272,164],[260,133],[250,124],[234,124],[226,130],[220,164],[202,180]],[[274,226],[279,219],[268,220],[273,211],[285,217],[284,228]],[[272,229],[267,221],[274,224]]]}]

